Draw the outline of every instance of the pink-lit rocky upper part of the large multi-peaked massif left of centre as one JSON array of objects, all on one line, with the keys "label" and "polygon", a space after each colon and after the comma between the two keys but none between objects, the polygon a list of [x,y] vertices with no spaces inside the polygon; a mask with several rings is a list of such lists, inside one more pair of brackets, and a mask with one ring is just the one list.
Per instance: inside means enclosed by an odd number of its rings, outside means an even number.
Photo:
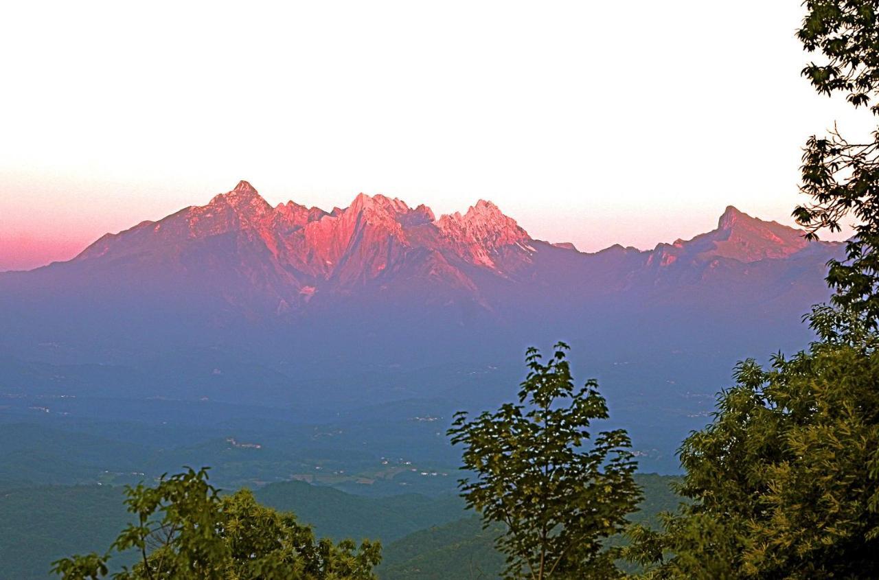
[{"label": "pink-lit rocky upper part of the large multi-peaked massif left of centre", "polygon": [[464,215],[439,220],[424,205],[412,208],[400,199],[365,193],[349,207],[325,212],[294,201],[271,207],[242,181],[206,206],[104,236],[76,260],[157,259],[166,268],[184,270],[192,267],[187,256],[193,249],[221,242],[226,250],[209,259],[239,260],[236,271],[275,295],[282,310],[322,292],[345,292],[389,277],[441,280],[478,294],[461,268],[505,275],[527,263],[534,251],[527,232],[483,200]]}]

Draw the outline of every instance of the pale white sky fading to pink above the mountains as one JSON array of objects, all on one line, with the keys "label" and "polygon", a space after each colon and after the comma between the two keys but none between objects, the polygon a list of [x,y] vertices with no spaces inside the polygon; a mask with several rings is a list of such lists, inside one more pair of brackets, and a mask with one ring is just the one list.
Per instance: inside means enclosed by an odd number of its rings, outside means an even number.
[{"label": "pale white sky fading to pink above the mountains", "polygon": [[[0,9],[0,270],[246,179],[272,205],[490,199],[535,238],[650,249],[728,205],[791,224],[834,121],[798,0],[20,2]],[[875,127],[875,125],[873,125]]]}]

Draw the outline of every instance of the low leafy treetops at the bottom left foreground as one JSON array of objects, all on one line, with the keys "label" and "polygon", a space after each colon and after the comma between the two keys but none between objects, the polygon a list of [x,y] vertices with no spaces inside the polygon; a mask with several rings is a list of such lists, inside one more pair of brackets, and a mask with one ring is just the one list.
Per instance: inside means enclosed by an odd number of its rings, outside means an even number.
[{"label": "low leafy treetops at the bottom left foreground", "polygon": [[117,580],[374,580],[381,546],[316,540],[309,526],[257,503],[241,489],[220,497],[207,470],[163,476],[156,487],[126,490],[137,522],[122,530],[105,555],[54,562],[63,580],[97,580],[113,551],[134,549],[140,561]]}]

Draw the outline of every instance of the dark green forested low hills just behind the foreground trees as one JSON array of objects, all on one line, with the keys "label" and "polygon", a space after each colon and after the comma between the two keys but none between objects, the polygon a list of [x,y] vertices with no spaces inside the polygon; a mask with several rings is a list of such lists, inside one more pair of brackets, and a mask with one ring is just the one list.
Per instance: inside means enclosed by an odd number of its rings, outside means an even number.
[{"label": "dark green forested low hills just behind the foreground trees", "polygon": [[[645,500],[633,519],[652,521],[657,511],[672,509],[677,502],[668,488],[672,481],[639,475]],[[109,546],[130,520],[122,491],[100,485],[0,488],[0,577],[46,580],[54,560]],[[464,511],[454,495],[372,498],[287,482],[257,489],[256,497],[294,511],[319,536],[381,540],[382,579],[469,578],[471,563],[497,576],[503,564],[491,530],[483,531],[479,518]]]}]

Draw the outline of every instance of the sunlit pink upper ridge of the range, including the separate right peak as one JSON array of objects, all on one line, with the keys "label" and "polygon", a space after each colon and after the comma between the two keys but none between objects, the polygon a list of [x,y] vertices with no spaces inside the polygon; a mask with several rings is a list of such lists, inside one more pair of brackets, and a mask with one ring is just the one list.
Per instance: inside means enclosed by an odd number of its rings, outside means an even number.
[{"label": "sunlit pink upper ridge of the range, including the separate right peak", "polygon": [[[294,201],[272,207],[241,181],[205,206],[103,236],[74,262],[111,267],[134,260],[160,272],[207,272],[202,278],[229,286],[220,289],[225,301],[243,305],[257,295],[282,313],[301,309],[316,295],[366,287],[490,308],[501,288],[489,285],[490,279],[533,284],[570,274],[612,292],[630,286],[639,269],[718,259],[750,264],[790,257],[809,245],[800,230],[727,207],[715,230],[688,241],[660,243],[647,252],[614,246],[585,254],[572,244],[534,240],[483,199],[464,214],[436,218],[424,205],[360,193],[349,207],[327,212]],[[238,280],[237,286],[229,279]]]}]

